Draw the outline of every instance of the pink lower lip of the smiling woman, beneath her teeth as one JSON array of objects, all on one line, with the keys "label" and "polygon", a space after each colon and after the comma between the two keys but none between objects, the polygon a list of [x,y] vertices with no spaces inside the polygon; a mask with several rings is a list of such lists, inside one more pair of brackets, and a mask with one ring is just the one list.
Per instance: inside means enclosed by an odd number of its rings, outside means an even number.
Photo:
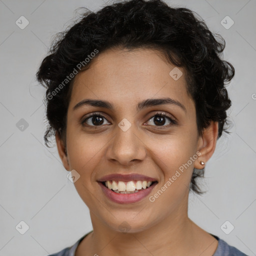
[{"label": "pink lower lip of the smiling woman, beneath her teeth", "polygon": [[132,203],[137,202],[147,196],[157,182],[153,183],[151,186],[147,187],[146,189],[142,189],[138,192],[130,193],[130,194],[121,194],[112,191],[111,189],[105,187],[101,182],[98,182],[101,189],[103,190],[104,194],[112,201],[117,203]]}]

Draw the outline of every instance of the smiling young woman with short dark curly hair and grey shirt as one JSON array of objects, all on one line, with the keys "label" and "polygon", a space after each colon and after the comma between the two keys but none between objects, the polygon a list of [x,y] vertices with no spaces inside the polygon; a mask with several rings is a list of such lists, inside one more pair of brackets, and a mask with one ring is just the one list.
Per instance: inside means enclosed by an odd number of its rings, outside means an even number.
[{"label": "smiling young woman with short dark curly hair and grey shirt", "polygon": [[161,0],[86,12],[60,34],[37,72],[44,138],[55,135],[93,230],[52,255],[245,255],[187,216],[231,104],[223,49]]}]

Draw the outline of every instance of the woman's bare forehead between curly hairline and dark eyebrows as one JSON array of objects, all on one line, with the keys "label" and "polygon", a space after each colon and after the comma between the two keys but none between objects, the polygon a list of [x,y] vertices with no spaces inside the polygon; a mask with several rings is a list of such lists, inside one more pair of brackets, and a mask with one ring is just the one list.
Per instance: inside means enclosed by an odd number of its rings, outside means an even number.
[{"label": "woman's bare forehead between curly hairline and dark eyebrows", "polygon": [[[180,76],[178,79],[173,76],[175,73]],[[90,67],[75,76],[70,105],[86,97],[106,99],[121,106],[166,96],[184,105],[190,103],[183,68],[168,63],[157,50],[109,49],[99,52]]]}]

